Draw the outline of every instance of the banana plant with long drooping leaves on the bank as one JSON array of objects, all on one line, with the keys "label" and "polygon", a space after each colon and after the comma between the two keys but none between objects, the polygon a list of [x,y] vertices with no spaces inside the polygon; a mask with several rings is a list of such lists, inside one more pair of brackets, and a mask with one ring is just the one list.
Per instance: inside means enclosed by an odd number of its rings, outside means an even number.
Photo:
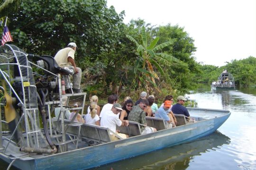
[{"label": "banana plant with long drooping leaves on the bank", "polygon": [[172,45],[173,41],[157,45],[159,37],[156,37],[148,45],[144,26],[141,29],[142,44],[139,44],[130,35],[126,35],[126,37],[137,46],[138,59],[135,62],[134,74],[138,80],[139,87],[144,85],[146,89],[149,90],[149,88],[152,89],[153,85],[156,88],[155,79],[159,79],[159,77],[155,70],[157,70],[161,75],[165,75],[163,67],[170,66],[173,61],[179,61],[172,55],[161,52],[161,50],[166,46]]}]

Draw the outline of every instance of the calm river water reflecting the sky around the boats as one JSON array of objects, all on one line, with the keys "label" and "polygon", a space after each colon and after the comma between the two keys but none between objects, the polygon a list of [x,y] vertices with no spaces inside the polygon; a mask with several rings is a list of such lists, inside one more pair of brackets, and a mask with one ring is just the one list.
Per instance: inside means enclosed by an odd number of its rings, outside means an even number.
[{"label": "calm river water reflecting the sky around the boats", "polygon": [[[231,115],[209,136],[93,170],[256,170],[256,87],[214,92],[204,86],[186,97],[199,108]],[[0,170],[8,166],[0,165]]]}]

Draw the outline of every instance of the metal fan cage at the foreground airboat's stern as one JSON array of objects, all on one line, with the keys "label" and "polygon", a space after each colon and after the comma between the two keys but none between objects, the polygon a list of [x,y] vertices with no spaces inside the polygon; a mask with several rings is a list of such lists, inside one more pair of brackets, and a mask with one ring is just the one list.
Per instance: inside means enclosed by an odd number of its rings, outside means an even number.
[{"label": "metal fan cage at the foreground airboat's stern", "polygon": [[[17,99],[21,110],[18,126],[26,131],[23,145],[39,148],[38,135],[41,133],[37,106],[37,87],[27,53],[15,45],[0,47],[0,78],[7,84],[8,93]],[[14,88],[13,86],[16,86]],[[8,113],[7,113],[8,114]]]}]

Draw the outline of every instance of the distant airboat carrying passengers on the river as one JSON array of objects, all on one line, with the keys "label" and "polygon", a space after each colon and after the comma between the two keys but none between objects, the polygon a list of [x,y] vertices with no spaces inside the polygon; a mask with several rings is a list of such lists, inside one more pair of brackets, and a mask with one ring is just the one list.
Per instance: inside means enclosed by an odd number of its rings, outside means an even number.
[{"label": "distant airboat carrying passengers on the river", "polygon": [[218,80],[211,83],[210,87],[211,90],[235,90],[235,79],[231,73],[224,70]]}]

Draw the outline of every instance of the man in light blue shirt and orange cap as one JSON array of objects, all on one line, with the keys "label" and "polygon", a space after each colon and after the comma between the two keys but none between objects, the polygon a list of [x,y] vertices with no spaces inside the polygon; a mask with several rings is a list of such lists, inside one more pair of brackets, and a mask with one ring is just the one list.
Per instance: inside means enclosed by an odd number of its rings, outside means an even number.
[{"label": "man in light blue shirt and orange cap", "polygon": [[155,118],[165,119],[165,128],[175,127],[174,119],[172,115],[168,113],[171,106],[172,102],[167,100],[164,102],[164,106],[160,107],[155,113]]}]

